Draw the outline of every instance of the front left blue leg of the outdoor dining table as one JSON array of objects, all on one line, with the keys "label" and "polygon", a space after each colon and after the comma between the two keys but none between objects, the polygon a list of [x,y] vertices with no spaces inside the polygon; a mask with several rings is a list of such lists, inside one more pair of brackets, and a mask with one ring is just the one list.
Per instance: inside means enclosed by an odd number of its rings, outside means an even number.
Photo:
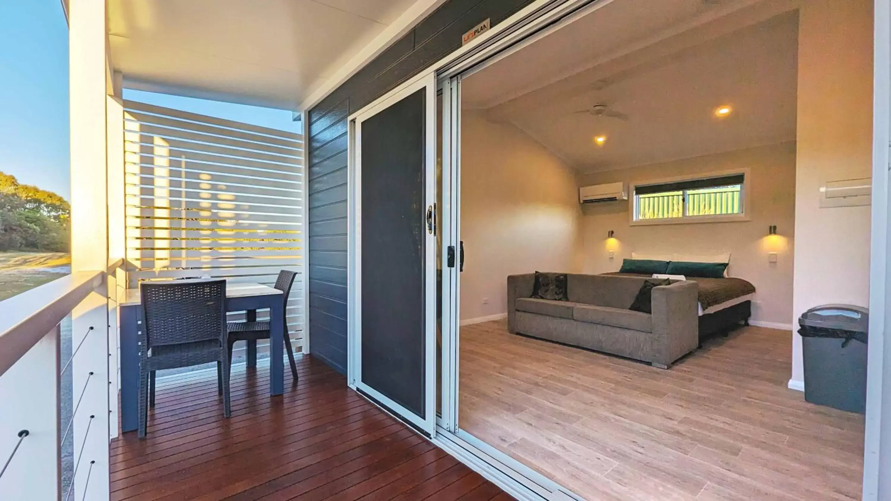
[{"label": "front left blue leg of the outdoor dining table", "polygon": [[120,308],[120,428],[139,428],[139,306]]}]

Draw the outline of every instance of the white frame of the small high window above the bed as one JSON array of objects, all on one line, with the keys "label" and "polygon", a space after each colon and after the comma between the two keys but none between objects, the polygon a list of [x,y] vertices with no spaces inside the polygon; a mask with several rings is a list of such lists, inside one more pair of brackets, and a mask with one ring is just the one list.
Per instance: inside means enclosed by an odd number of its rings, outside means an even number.
[{"label": "white frame of the small high window above the bed", "polygon": [[[742,174],[741,200],[742,212],[740,214],[715,214],[715,215],[682,215],[681,217],[666,217],[659,219],[634,219],[637,211],[637,187],[650,184],[661,184],[668,182],[684,182],[696,181],[699,179],[707,179],[710,177],[720,177],[726,175]],[[654,226],[661,224],[701,224],[705,222],[747,222],[751,221],[751,183],[752,174],[748,168],[732,169],[726,171],[707,172],[702,174],[687,174],[682,176],[674,176],[661,179],[642,179],[641,181],[628,183],[628,223],[630,226]],[[684,204],[683,212],[686,213],[687,207]]]}]

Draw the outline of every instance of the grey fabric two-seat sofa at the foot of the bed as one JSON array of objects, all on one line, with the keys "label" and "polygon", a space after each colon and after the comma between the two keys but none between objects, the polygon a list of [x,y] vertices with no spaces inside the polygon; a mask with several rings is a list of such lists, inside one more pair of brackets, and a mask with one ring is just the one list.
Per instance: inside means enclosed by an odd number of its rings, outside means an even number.
[{"label": "grey fabric two-seat sofa at the foot of the bed", "polygon": [[699,345],[699,286],[675,281],[654,287],[652,314],[628,310],[644,280],[570,273],[569,301],[549,301],[529,297],[534,273],[511,275],[508,330],[667,368]]}]

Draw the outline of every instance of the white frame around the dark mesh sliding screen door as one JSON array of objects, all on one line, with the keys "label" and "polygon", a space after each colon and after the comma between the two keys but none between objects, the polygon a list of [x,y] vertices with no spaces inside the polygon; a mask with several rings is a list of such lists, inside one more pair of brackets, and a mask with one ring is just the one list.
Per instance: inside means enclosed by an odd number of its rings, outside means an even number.
[{"label": "white frame around the dark mesh sliding screen door", "polygon": [[[421,89],[425,93],[425,151],[424,151],[424,210],[416,214],[423,225],[427,224],[427,207],[436,204],[437,162],[437,81],[436,72],[429,71],[414,77],[380,99],[348,117],[348,184],[347,224],[352,229],[347,242],[347,384],[387,408],[392,414],[404,419],[429,437],[436,435],[437,427],[437,238],[435,231],[425,232],[424,239],[424,416],[414,414],[408,408],[378,392],[362,380],[362,124],[384,109],[402,101]],[[435,214],[433,221],[436,221]],[[435,226],[435,224],[434,224]]]}]

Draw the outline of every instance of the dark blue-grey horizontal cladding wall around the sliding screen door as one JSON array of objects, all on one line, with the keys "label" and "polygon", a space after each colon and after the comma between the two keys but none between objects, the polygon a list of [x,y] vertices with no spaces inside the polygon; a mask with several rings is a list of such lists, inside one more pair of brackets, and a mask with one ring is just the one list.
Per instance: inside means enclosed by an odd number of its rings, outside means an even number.
[{"label": "dark blue-grey horizontal cladding wall around the sliding screen door", "polygon": [[449,0],[309,110],[309,338],[313,356],[347,372],[347,116],[532,0]]}]

